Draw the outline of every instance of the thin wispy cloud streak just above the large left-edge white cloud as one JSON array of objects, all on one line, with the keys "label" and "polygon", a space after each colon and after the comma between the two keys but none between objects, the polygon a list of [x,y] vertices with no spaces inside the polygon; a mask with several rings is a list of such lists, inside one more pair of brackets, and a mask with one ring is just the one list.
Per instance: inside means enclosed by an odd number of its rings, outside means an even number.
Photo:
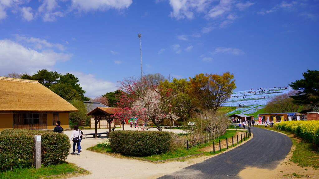
[{"label": "thin wispy cloud streak just above the large left-edge white cloud", "polygon": [[45,39],[39,39],[39,38],[34,38],[34,37],[24,37],[21,35],[15,35],[16,39],[20,42],[25,42],[29,44],[30,46],[33,46],[36,49],[44,49],[44,48],[57,48],[61,51],[65,50],[65,47],[62,44],[54,44],[54,43],[49,43]]}]

